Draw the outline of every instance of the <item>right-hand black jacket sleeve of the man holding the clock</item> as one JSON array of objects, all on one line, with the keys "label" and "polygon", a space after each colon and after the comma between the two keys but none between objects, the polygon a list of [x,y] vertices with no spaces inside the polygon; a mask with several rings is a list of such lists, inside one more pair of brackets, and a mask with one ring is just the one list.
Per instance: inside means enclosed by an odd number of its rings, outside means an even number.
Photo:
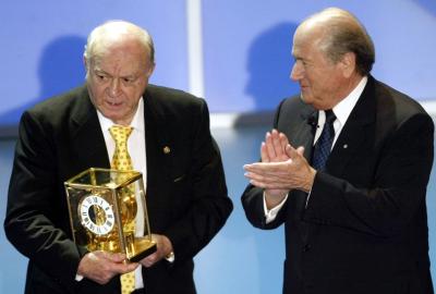
[{"label": "right-hand black jacket sleeve of the man holding the clock", "polygon": [[195,130],[190,138],[192,150],[189,162],[189,208],[165,234],[170,238],[175,260],[191,259],[226,223],[232,211],[228,197],[221,156],[209,131],[209,112],[206,102],[197,98],[192,118]]}]

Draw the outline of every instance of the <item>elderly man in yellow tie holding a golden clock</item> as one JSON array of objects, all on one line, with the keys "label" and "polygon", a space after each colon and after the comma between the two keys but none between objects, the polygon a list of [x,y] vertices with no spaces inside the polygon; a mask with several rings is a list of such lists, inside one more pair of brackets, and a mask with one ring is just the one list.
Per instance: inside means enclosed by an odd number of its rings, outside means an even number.
[{"label": "elderly man in yellow tie holding a golden clock", "polygon": [[[25,293],[195,293],[193,257],[232,210],[207,106],[148,85],[154,45],[134,24],[96,27],[84,61],[86,86],[21,120],[4,229],[29,258]],[[116,127],[128,131],[130,164],[144,175],[157,243],[138,264],[76,246],[70,229],[63,182],[89,167],[113,168]],[[130,285],[120,281],[129,272]]]}]

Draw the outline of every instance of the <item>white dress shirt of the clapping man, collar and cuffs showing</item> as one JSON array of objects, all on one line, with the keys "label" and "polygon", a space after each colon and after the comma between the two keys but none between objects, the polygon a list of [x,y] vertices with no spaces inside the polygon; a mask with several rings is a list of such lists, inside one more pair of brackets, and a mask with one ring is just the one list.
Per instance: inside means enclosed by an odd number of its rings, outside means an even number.
[{"label": "white dress shirt of the clapping man, collar and cuffs showing", "polygon": [[[346,125],[346,122],[347,122],[348,118],[350,117],[351,111],[353,110],[354,106],[358,103],[359,97],[361,97],[363,89],[366,86],[366,83],[367,83],[367,77],[364,76],[361,79],[361,82],[359,82],[358,86],[344,99],[342,99],[338,105],[336,105],[332,108],[332,111],[336,115],[336,120],[334,122],[335,138],[331,144],[331,149],[334,148],[336,140],[339,137],[340,132],[342,131],[343,126]],[[315,132],[315,138],[313,142],[314,146],[323,132],[325,122],[326,122],[326,113],[324,110],[319,110],[318,111],[318,123],[317,123],[317,127],[316,127],[316,132]],[[294,147],[298,147],[298,146],[294,146]],[[306,206],[308,204],[310,197],[311,197],[311,193],[308,193],[308,195],[307,195]],[[287,199],[288,199],[288,195],[283,198],[283,200],[280,204],[278,204],[277,206],[275,206],[268,210],[266,207],[265,193],[264,193],[264,211],[265,211],[265,217],[266,217],[266,223],[269,223],[276,219],[277,213],[280,211],[281,207],[284,205]]]}]

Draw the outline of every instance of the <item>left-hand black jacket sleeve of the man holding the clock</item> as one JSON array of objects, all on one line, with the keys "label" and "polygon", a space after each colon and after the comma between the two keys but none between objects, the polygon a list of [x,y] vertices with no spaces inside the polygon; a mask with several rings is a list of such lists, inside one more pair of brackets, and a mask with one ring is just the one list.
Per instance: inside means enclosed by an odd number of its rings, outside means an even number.
[{"label": "left-hand black jacket sleeve of the man holding the clock", "polygon": [[[44,119],[25,112],[20,123],[9,186],[4,230],[9,241],[35,265],[64,284],[72,283],[80,249],[59,224],[65,200],[57,182],[55,145]],[[68,224],[66,224],[68,228]]]}]

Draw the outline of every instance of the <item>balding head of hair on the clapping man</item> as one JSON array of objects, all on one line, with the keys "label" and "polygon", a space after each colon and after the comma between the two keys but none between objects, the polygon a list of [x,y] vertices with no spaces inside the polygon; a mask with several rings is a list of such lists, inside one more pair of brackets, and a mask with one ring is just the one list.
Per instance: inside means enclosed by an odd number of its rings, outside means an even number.
[{"label": "balding head of hair on the clapping man", "polygon": [[356,71],[367,75],[375,62],[374,42],[365,27],[350,12],[329,8],[310,16],[304,22],[319,22],[325,29],[320,49],[332,62],[338,62],[343,54],[355,54]]}]

